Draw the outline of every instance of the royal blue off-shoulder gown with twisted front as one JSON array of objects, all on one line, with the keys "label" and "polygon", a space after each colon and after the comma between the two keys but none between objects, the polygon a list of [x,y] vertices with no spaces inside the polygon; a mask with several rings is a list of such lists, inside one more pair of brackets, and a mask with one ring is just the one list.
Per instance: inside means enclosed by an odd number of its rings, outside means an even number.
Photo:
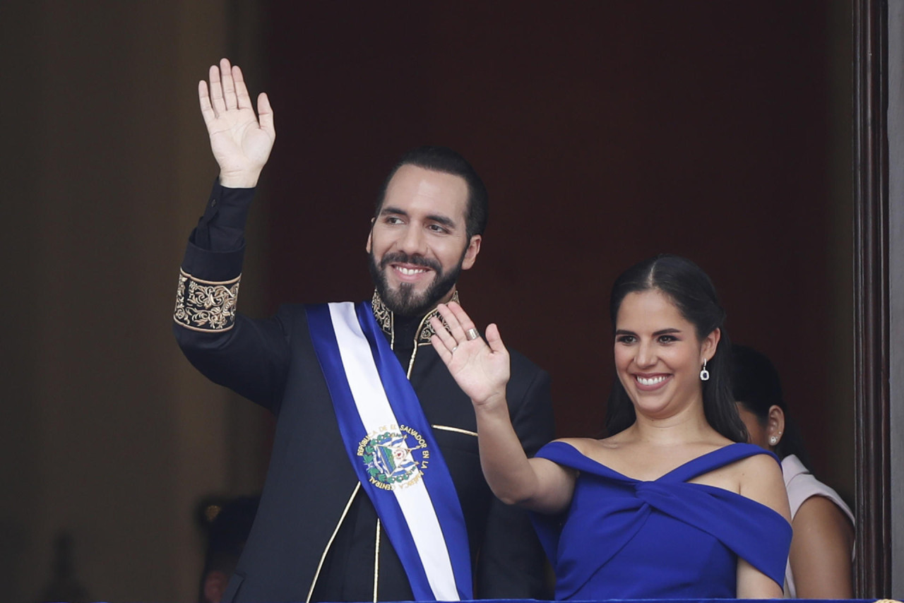
[{"label": "royal blue off-shoulder gown with twisted front", "polygon": [[687,482],[758,454],[775,457],[730,444],[644,482],[564,442],[541,448],[537,457],[579,470],[565,513],[532,513],[556,598],[735,598],[739,557],[781,586],[791,545],[785,518],[745,496]]}]

